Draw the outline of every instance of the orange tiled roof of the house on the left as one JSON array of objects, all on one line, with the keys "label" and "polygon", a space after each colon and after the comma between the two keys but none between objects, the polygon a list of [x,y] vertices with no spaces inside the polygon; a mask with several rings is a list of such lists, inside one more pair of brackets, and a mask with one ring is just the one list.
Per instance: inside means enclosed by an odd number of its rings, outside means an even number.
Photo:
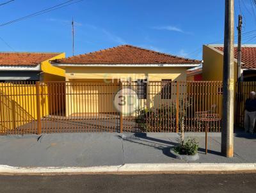
[{"label": "orange tiled roof of the house on the left", "polygon": [[37,66],[60,53],[0,52],[0,66]]}]

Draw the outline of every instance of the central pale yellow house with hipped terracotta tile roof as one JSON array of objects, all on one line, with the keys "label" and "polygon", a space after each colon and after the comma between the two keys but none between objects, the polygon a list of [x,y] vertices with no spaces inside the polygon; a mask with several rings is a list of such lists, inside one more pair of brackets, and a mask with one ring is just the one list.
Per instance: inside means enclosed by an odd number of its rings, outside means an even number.
[{"label": "central pale yellow house with hipped terracotta tile roof", "polygon": [[[119,82],[123,82],[125,86],[127,81],[156,81],[158,83],[186,81],[186,70],[201,63],[195,59],[180,58],[132,45],[120,45],[51,61],[52,66],[65,70],[68,85],[66,86],[67,116],[83,112],[113,112],[115,111],[113,95],[106,96],[104,93],[116,93],[120,89]],[[87,83],[79,86],[76,82]],[[87,85],[84,86],[85,84]],[[109,90],[104,90],[109,84],[112,84],[111,87],[108,86]],[[154,86],[149,89],[154,89]],[[91,91],[93,93],[90,93]],[[88,98],[90,95],[97,95],[98,98],[94,97],[95,100],[90,101]],[[147,97],[152,97],[152,100],[156,101],[155,96]],[[72,107],[72,105],[76,106]]]}]

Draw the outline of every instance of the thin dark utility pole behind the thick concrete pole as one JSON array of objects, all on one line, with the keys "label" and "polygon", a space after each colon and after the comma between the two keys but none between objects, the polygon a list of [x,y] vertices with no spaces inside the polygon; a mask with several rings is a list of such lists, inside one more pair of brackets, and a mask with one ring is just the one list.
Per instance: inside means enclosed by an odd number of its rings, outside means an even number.
[{"label": "thin dark utility pole behind the thick concrete pole", "polygon": [[242,37],[241,37],[241,31],[242,31],[242,15],[238,15],[238,45],[237,45],[237,81],[238,82],[243,82],[243,75],[241,75],[241,42],[242,42]]}]

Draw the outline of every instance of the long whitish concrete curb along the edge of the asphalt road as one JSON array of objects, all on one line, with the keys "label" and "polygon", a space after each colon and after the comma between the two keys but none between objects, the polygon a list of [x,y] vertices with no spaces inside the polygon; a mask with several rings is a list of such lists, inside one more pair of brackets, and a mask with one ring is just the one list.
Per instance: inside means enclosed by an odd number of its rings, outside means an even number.
[{"label": "long whitish concrete curb along the edge of the asphalt road", "polygon": [[124,164],[98,167],[13,167],[0,165],[0,174],[95,174],[95,173],[195,173],[255,171],[250,164]]}]

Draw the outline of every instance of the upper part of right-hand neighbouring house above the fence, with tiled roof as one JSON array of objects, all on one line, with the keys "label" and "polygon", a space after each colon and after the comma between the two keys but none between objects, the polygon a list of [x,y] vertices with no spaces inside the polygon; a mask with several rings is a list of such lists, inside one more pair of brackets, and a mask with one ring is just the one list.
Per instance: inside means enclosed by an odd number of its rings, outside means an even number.
[{"label": "upper part of right-hand neighbouring house above the fence, with tiled roof", "polygon": [[[204,45],[203,80],[222,81],[223,45]],[[244,81],[256,81],[256,45],[242,45],[241,75]],[[234,48],[234,82],[237,81],[237,45]]]}]

